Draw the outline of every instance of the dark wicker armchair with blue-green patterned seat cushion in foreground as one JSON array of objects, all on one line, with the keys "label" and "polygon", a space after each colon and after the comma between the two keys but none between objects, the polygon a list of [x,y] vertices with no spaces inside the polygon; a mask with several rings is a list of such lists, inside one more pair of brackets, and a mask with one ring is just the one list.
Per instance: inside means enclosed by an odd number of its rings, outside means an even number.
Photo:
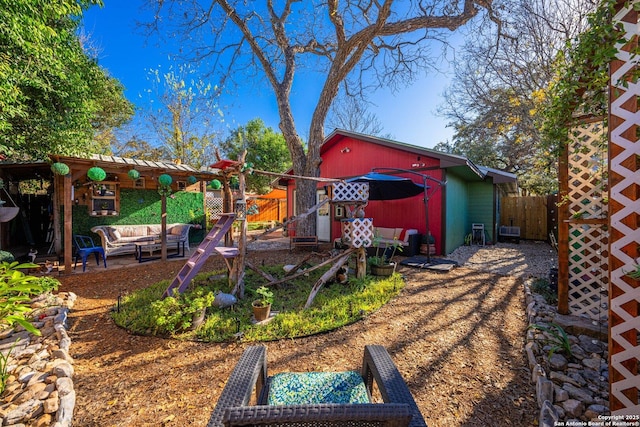
[{"label": "dark wicker armchair with blue-green patterned seat cushion in foreground", "polygon": [[[372,403],[373,384],[383,403]],[[255,393],[255,405],[249,405]],[[426,423],[389,353],[364,349],[361,372],[267,376],[264,346],[248,347],[236,364],[207,427],[424,426]]]}]

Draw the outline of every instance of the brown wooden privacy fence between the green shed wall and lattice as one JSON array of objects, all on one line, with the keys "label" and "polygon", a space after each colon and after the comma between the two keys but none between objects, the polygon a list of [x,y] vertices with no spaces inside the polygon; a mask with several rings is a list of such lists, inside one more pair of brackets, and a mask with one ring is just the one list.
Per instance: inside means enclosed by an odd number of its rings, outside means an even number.
[{"label": "brown wooden privacy fence between the green shed wall and lattice", "polygon": [[520,227],[522,239],[546,241],[556,211],[553,196],[504,197],[498,225]]}]

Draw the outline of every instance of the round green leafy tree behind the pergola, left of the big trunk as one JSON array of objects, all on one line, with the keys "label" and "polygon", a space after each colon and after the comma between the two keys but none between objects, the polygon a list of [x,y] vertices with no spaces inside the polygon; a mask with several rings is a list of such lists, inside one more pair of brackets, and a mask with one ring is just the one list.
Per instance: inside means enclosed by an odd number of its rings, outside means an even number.
[{"label": "round green leafy tree behind the pergola, left of the big trunk", "polygon": [[[261,119],[254,119],[245,126],[231,132],[231,136],[220,144],[224,156],[237,159],[247,150],[247,163],[256,169],[269,172],[285,172],[291,168],[287,144],[281,133],[266,127]],[[247,189],[258,194],[268,193],[273,177],[252,174],[247,177]]]}]

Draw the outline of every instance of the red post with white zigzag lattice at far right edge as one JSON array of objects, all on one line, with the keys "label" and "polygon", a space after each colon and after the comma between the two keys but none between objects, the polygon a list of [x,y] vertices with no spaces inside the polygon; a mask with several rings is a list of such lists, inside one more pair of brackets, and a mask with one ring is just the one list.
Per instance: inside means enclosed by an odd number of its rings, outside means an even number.
[{"label": "red post with white zigzag lattice at far right edge", "polygon": [[640,254],[640,142],[638,141],[638,97],[640,86],[623,80],[635,68],[628,53],[637,45],[640,1],[617,2],[614,25],[621,24],[626,40],[611,63],[609,105],[609,182],[611,187],[611,256],[609,298],[609,383],[610,409],[615,415],[640,414],[640,284],[625,276],[637,264]]}]

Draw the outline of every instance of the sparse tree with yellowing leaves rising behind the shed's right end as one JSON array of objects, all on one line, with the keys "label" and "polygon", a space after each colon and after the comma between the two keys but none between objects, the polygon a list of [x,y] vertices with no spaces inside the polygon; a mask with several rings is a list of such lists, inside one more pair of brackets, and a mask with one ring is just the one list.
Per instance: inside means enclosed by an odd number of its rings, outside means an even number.
[{"label": "sparse tree with yellowing leaves rising behind the shed's right end", "polygon": [[496,9],[501,25],[477,28],[457,55],[441,108],[455,133],[436,148],[515,173],[524,192],[549,194],[558,183],[556,157],[543,144],[546,92],[558,55],[584,30],[596,2],[502,0],[501,5]]}]

